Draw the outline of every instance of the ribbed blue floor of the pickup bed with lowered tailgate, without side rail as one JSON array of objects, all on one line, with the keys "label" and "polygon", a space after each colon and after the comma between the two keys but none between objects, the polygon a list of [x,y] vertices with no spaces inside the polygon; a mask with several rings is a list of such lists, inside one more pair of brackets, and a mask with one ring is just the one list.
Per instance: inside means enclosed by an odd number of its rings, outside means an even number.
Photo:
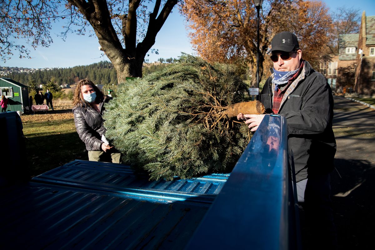
[{"label": "ribbed blue floor of the pickup bed with lowered tailgate, without side rail", "polygon": [[148,181],[75,160],[1,190],[2,249],[182,249],[227,178]]}]

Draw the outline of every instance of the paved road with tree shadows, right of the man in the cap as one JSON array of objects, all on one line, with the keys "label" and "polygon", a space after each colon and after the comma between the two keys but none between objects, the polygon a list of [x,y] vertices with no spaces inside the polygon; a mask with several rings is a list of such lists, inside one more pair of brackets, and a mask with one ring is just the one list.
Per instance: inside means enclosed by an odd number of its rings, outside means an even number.
[{"label": "paved road with tree shadows, right of the man in the cap", "polygon": [[339,249],[375,249],[375,110],[335,96],[332,195]]}]

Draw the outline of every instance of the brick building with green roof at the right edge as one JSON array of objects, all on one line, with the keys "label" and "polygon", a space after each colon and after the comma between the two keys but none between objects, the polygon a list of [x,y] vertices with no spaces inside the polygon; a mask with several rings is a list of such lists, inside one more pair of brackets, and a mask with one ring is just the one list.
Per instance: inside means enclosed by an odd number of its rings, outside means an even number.
[{"label": "brick building with green roof at the right edge", "polygon": [[375,96],[375,16],[362,13],[359,34],[339,36],[339,54],[320,64],[334,93]]}]

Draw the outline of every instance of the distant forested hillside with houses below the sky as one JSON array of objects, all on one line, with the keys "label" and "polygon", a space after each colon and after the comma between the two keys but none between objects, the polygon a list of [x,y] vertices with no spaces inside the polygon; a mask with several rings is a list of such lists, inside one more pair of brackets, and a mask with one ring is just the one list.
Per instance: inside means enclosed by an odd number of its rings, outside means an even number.
[{"label": "distant forested hillside with houses below the sky", "polygon": [[[143,75],[163,69],[168,63],[144,63]],[[55,84],[72,84],[80,79],[88,78],[95,84],[117,84],[117,73],[112,63],[101,61],[86,66],[69,68],[27,69],[19,67],[0,67],[0,76],[11,78],[22,84],[47,84],[52,78]]]}]

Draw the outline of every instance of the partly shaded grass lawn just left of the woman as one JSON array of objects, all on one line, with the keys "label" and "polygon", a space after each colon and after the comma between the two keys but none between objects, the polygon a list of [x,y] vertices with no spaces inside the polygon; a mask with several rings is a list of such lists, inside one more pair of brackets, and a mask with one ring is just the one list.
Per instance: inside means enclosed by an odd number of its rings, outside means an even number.
[{"label": "partly shaded grass lawn just left of the woman", "polygon": [[23,132],[31,177],[75,159],[88,160],[74,119],[23,123]]}]

